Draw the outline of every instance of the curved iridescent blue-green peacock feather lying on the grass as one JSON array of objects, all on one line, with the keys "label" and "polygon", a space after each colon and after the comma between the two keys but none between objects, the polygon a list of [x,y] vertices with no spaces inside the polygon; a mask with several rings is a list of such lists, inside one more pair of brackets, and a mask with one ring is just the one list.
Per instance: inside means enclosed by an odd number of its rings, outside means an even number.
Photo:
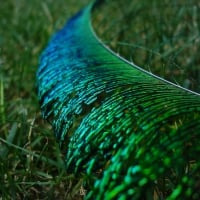
[{"label": "curved iridescent blue-green peacock feather lying on the grass", "polygon": [[200,199],[200,95],[130,63],[91,26],[94,1],[44,50],[38,97],[86,199]]}]

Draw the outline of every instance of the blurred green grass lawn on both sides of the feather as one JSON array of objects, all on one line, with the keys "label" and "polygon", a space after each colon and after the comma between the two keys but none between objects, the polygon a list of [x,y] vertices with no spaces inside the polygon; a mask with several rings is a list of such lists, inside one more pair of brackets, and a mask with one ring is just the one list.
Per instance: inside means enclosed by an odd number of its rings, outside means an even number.
[{"label": "blurred green grass lawn on both sides of the feather", "polygon": [[[89,0],[7,0],[0,4],[0,199],[82,199],[49,124],[35,73],[42,50]],[[117,2],[117,3],[116,3]],[[94,12],[97,35],[146,70],[200,91],[200,4],[108,1]]]}]

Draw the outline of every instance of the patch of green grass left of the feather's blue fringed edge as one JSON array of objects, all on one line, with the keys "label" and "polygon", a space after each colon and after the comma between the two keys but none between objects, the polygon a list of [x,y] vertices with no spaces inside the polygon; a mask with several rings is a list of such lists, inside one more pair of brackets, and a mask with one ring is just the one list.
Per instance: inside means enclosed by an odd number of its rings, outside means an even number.
[{"label": "patch of green grass left of the feather's blue fringed edge", "polygon": [[38,105],[35,74],[51,35],[88,1],[0,6],[0,199],[82,199]]}]

